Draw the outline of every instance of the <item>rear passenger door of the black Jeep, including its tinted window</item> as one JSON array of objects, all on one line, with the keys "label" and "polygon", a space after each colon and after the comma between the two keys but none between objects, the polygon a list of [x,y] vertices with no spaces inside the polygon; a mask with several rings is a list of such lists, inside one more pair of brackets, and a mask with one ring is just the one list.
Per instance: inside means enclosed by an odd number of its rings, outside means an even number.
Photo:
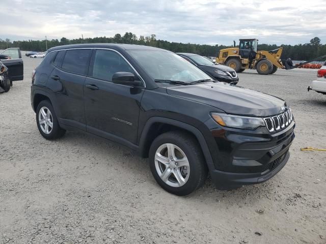
[{"label": "rear passenger door of the black Jeep, including its tinted window", "polygon": [[55,93],[60,123],[86,130],[84,82],[92,49],[60,51],[47,86]]}]

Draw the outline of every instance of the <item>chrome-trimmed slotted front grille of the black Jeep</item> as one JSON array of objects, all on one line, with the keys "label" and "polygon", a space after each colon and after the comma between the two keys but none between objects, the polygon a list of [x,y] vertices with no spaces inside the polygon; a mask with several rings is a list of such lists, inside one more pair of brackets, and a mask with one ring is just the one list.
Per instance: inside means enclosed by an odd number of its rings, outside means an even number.
[{"label": "chrome-trimmed slotted front grille of the black Jeep", "polygon": [[291,109],[287,109],[284,113],[276,116],[264,118],[267,130],[269,132],[277,132],[283,130],[291,124],[293,115]]}]

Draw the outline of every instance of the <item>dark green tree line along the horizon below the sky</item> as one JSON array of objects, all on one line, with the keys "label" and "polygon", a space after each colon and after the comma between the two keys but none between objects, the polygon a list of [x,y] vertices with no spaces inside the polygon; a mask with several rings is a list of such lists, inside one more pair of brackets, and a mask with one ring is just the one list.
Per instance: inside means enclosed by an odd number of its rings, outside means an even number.
[{"label": "dark green tree line along the horizon below the sky", "polygon": [[[28,40],[28,41],[11,41],[9,39],[0,39],[0,49],[6,49],[7,47],[19,47],[21,50],[29,51],[45,51],[46,44],[47,48],[67,45],[67,44],[78,44],[78,43],[127,43],[127,44],[138,44],[147,45],[152,47],[158,47],[167,49],[173,52],[189,52],[196,53],[203,56],[216,56],[219,50],[232,47],[224,45],[205,45],[205,44],[191,44],[191,43],[177,43],[169,42],[164,40],[157,40],[156,36],[140,36],[139,38],[132,33],[125,33],[123,36],[116,34],[114,37],[95,37],[95,38],[78,38],[78,39],[67,39],[65,37],[52,40]],[[276,44],[258,44],[258,50],[274,50],[279,47],[283,47],[282,58],[292,58],[293,60],[309,60],[321,55],[326,54],[326,44],[322,45],[320,39],[315,37],[306,44],[297,45],[281,45]]]}]

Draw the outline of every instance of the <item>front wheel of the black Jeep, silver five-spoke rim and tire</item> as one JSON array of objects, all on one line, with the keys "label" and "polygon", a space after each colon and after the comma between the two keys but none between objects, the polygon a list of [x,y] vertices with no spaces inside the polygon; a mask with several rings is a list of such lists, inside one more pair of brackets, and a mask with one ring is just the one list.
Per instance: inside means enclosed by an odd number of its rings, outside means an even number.
[{"label": "front wheel of the black Jeep, silver five-spoke rim and tire", "polygon": [[150,147],[149,162],[157,183],[175,195],[192,193],[207,178],[207,166],[198,142],[183,132],[158,136]]}]

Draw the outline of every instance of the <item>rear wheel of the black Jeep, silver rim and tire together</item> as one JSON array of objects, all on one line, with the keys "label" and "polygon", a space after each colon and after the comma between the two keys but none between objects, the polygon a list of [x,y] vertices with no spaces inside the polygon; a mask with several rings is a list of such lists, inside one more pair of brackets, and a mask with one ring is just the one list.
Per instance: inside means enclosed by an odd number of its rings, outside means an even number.
[{"label": "rear wheel of the black Jeep, silver rim and tire together", "polygon": [[37,106],[36,122],[41,135],[45,139],[60,138],[66,132],[60,128],[56,112],[48,100],[41,101]]}]

